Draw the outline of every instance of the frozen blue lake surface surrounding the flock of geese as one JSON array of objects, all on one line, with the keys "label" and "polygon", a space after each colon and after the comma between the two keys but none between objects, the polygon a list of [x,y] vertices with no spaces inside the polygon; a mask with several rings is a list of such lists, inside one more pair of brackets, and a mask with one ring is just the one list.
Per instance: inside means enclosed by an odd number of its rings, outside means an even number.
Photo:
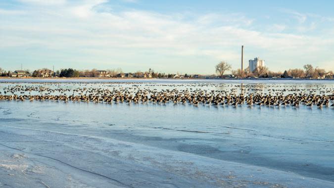
[{"label": "frozen blue lake surface surrounding the flock of geese", "polygon": [[[45,88],[334,94],[334,81],[0,82],[2,94],[18,95]],[[31,87],[43,89],[21,93]],[[0,101],[0,187],[334,188],[333,129],[332,107]]]}]

